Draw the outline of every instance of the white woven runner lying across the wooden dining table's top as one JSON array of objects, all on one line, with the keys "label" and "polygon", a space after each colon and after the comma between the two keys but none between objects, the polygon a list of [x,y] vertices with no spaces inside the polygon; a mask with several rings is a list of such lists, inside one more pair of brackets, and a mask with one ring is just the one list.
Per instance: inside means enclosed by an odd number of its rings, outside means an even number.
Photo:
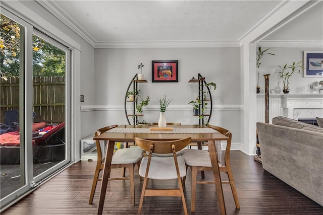
[{"label": "white woven runner lying across the wooden dining table's top", "polygon": [[106,133],[219,133],[212,128],[173,128],[172,131],[150,131],[149,128],[112,128]]}]

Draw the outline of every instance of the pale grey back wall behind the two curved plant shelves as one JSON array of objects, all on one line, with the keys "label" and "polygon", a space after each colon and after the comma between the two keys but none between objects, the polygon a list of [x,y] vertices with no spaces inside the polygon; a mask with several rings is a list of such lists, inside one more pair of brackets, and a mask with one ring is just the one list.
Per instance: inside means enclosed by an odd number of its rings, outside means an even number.
[{"label": "pale grey back wall behind the two curved plant shelves", "polygon": [[[152,83],[152,60],[178,60],[178,83]],[[233,142],[240,145],[241,122],[241,74],[240,48],[106,48],[94,51],[94,82],[96,127],[108,124],[128,124],[124,112],[124,98],[131,79],[139,72],[137,65],[143,63],[143,73],[148,83],[140,84],[142,97],[149,95],[151,102],[144,109],[144,119],[158,121],[159,98],[173,98],[166,111],[166,120],[196,124],[192,106],[188,102],[198,94],[198,85],[188,83],[198,73],[206,82],[217,84],[211,91],[213,114],[210,124],[224,126],[233,133]],[[239,148],[240,149],[240,148]]]}]

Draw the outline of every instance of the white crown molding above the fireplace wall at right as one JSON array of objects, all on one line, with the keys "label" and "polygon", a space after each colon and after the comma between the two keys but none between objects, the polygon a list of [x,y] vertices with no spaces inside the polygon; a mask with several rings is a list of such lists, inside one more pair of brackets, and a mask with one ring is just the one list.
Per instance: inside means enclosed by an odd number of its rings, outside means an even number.
[{"label": "white crown molding above the fireplace wall at right", "polygon": [[261,40],[257,44],[273,48],[323,48],[322,40]]}]

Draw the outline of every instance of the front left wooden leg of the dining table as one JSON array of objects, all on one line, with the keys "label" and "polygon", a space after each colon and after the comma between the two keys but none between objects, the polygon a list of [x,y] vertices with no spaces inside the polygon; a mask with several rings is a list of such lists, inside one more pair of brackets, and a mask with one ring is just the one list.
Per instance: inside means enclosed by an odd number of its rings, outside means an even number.
[{"label": "front left wooden leg of the dining table", "polygon": [[111,161],[112,161],[114,148],[115,148],[115,141],[114,140],[108,141],[106,153],[105,153],[103,173],[102,173],[99,204],[97,205],[97,214],[99,214],[99,215],[101,215],[102,211],[103,211],[105,192],[106,192],[107,182],[109,181],[109,177],[110,177]]}]

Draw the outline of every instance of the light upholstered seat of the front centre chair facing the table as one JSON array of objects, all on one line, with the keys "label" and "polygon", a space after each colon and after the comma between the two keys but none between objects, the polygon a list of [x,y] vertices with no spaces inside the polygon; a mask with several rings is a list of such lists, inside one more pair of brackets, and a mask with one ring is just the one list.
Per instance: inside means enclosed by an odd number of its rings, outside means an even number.
[{"label": "light upholstered seat of the front centre chair facing the table", "polygon": [[[145,177],[148,157],[143,157],[141,160],[139,175]],[[182,157],[177,157],[180,176],[186,176],[186,166]],[[177,179],[174,157],[151,157],[149,179],[168,180]]]}]

